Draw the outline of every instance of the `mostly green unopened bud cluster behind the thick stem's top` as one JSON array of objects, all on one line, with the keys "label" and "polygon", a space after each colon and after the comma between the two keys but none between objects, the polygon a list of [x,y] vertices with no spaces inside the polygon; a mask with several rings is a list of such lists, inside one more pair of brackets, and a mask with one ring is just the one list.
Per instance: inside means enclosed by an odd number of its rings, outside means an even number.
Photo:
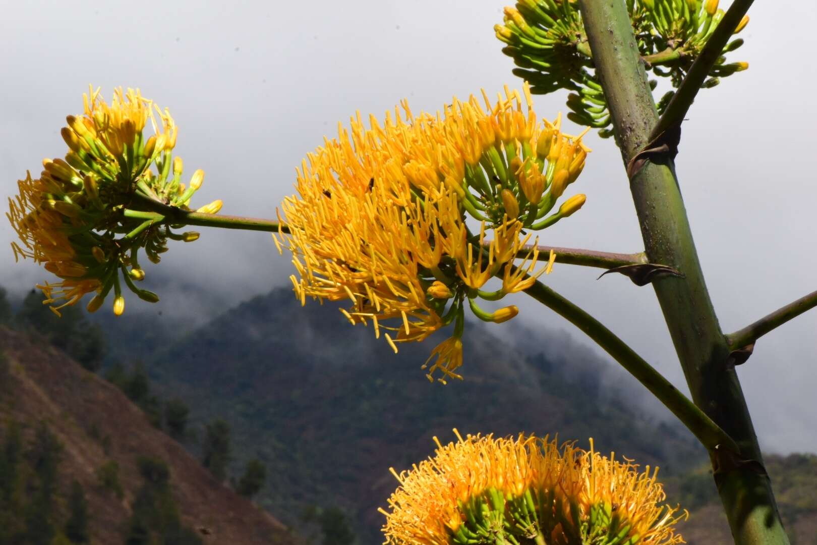
[{"label": "mostly green unopened bud cluster behind the thick stem's top", "polygon": [[[646,69],[670,78],[675,88],[724,16],[718,0],[627,0],[627,10]],[[734,34],[747,23],[748,16]],[[604,90],[596,76],[576,0],[519,0],[516,7],[505,8],[504,22],[494,30],[507,44],[502,52],[518,66],[513,73],[531,83],[531,92],[571,91],[568,117],[600,129],[602,137],[612,136]],[[745,62],[726,62],[725,54],[741,45],[743,40],[737,38],[724,47],[703,87],[714,87],[720,78],[748,68]],[[650,80],[650,87],[657,85],[657,80]],[[673,93],[667,92],[658,101],[659,113]]]}]

